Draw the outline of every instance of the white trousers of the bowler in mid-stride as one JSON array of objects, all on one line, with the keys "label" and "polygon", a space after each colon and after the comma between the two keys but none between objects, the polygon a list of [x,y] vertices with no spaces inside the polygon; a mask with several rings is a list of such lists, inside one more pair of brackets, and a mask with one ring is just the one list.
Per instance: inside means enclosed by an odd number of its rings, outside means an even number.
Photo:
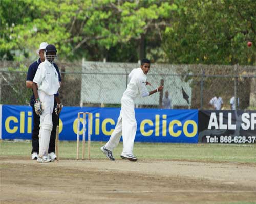
[{"label": "white trousers of the bowler in mid-stride", "polygon": [[137,130],[135,119],[134,100],[129,97],[122,97],[121,111],[117,120],[115,130],[110,136],[105,147],[113,151],[117,147],[121,136],[123,136],[123,154],[133,154],[134,139]]}]

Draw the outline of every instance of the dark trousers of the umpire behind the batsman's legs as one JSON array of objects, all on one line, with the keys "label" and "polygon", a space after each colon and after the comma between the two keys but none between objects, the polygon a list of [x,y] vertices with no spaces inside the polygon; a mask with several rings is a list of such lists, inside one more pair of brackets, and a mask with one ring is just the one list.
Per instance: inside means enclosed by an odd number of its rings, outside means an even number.
[{"label": "dark trousers of the umpire behind the batsman's legs", "polygon": [[[38,154],[39,152],[39,125],[40,125],[40,116],[35,113],[35,108],[32,106],[33,109],[33,131],[32,131],[32,152],[36,152]],[[54,152],[55,153],[55,138],[56,138],[56,127],[57,127],[57,115],[55,114],[55,111],[53,110],[52,113],[52,132],[50,137],[50,143],[49,143],[49,153]]]}]

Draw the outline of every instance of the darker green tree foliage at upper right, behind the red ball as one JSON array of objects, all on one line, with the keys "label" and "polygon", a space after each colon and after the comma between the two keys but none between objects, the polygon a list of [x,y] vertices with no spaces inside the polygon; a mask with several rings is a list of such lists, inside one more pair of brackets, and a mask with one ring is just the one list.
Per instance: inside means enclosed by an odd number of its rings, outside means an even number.
[{"label": "darker green tree foliage at upper right, behind the red ball", "polygon": [[[179,7],[165,32],[170,63],[255,64],[255,1],[191,0]],[[248,41],[254,46],[247,47]]]}]

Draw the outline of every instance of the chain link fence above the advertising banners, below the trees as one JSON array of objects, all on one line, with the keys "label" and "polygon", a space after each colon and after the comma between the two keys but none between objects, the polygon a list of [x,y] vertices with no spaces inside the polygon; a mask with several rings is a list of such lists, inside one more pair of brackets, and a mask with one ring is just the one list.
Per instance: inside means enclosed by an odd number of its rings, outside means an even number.
[{"label": "chain link fence above the advertising banners, below the trees", "polygon": [[[26,88],[31,62],[0,61],[0,104],[28,105],[32,89]],[[128,75],[137,63],[57,62],[62,78],[59,90],[65,106],[120,107]],[[148,90],[164,85],[163,92],[136,100],[137,108],[212,109],[214,96],[230,109],[230,98],[239,98],[239,109],[256,110],[256,67],[224,65],[152,64]]]}]

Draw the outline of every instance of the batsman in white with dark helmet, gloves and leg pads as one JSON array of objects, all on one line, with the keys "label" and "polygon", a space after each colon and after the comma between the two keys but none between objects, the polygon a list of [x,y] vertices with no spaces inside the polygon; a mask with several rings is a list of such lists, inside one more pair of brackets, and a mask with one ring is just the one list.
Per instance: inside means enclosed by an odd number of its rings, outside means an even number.
[{"label": "batsman in white with dark helmet, gloves and leg pads", "polygon": [[[54,94],[58,92],[60,87],[58,73],[53,66],[53,61],[57,57],[56,47],[54,45],[48,45],[44,55],[45,61],[39,64],[32,84],[36,98],[34,105],[35,112],[40,115],[39,154],[37,162],[52,161],[48,156],[48,148],[53,127]],[[57,109],[61,110],[62,104],[57,106]]]}]

